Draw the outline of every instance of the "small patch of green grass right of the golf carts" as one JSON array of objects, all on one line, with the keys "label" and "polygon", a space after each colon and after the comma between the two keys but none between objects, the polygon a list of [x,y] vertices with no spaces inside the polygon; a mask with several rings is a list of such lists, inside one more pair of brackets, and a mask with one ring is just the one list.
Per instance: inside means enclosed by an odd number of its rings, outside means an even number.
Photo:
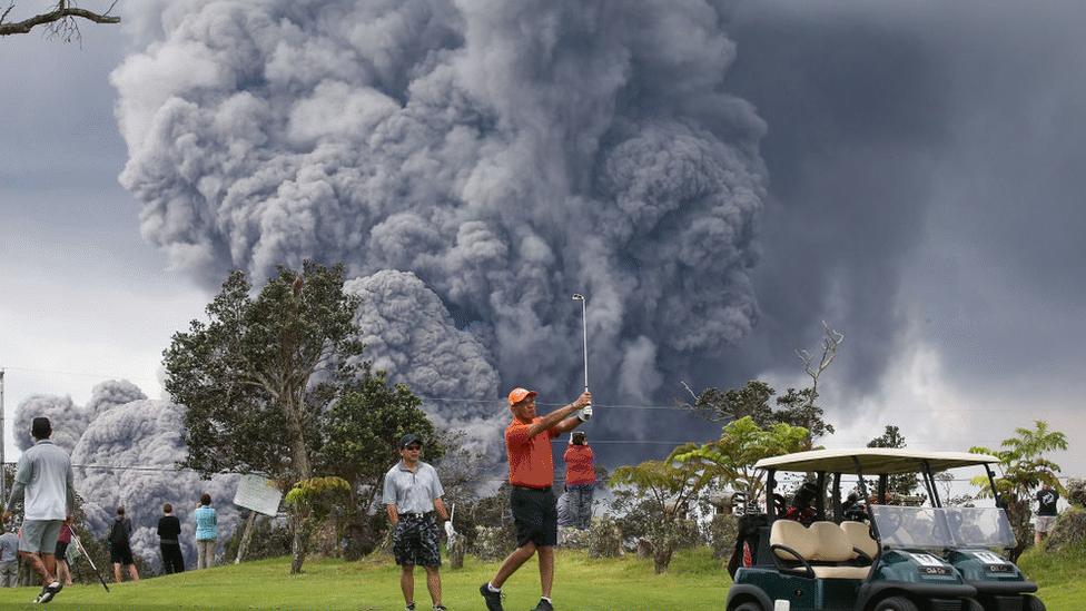
[{"label": "small patch of green grass right of the golf carts", "polygon": [[1048,611],[1086,609],[1086,545],[1058,553],[1030,548],[1018,568],[1039,585],[1038,598]]}]

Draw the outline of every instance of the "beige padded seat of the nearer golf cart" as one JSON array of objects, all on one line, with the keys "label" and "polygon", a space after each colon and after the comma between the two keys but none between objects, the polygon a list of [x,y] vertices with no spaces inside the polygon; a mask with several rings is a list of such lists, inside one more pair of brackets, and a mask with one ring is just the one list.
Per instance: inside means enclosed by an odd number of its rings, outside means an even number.
[{"label": "beige padded seat of the nearer golf cart", "polygon": [[797,562],[797,555],[802,558],[819,579],[866,579],[871,570],[849,564],[855,554],[852,544],[832,522],[814,522],[808,529],[799,522],[777,520],[769,543],[781,560]]}]

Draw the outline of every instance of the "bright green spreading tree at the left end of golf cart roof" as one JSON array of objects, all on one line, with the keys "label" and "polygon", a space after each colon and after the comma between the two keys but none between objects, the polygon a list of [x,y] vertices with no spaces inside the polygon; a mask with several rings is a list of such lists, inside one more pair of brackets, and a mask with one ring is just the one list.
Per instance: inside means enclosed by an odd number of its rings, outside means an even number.
[{"label": "bright green spreading tree at the left end of golf cart roof", "polygon": [[685,444],[672,452],[675,462],[695,469],[722,486],[743,492],[756,502],[766,484],[754,473],[754,463],[770,456],[800,452],[810,438],[807,428],[776,423],[762,428],[751,417],[728,423],[720,438],[704,445]]}]

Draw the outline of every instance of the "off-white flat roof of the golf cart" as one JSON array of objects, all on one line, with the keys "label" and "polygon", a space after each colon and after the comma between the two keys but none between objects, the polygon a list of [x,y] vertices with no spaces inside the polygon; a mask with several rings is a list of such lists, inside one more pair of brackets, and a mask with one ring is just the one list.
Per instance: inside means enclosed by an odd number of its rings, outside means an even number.
[{"label": "off-white flat roof of the golf cart", "polygon": [[[931,472],[946,471],[959,466],[998,463],[999,459],[988,454],[968,452],[918,452],[890,447],[862,447],[859,450],[812,450],[762,459],[754,469],[774,471],[803,471],[826,473],[862,472],[865,475],[916,473],[922,471],[927,461]],[[859,462],[859,469],[857,469]]]}]

